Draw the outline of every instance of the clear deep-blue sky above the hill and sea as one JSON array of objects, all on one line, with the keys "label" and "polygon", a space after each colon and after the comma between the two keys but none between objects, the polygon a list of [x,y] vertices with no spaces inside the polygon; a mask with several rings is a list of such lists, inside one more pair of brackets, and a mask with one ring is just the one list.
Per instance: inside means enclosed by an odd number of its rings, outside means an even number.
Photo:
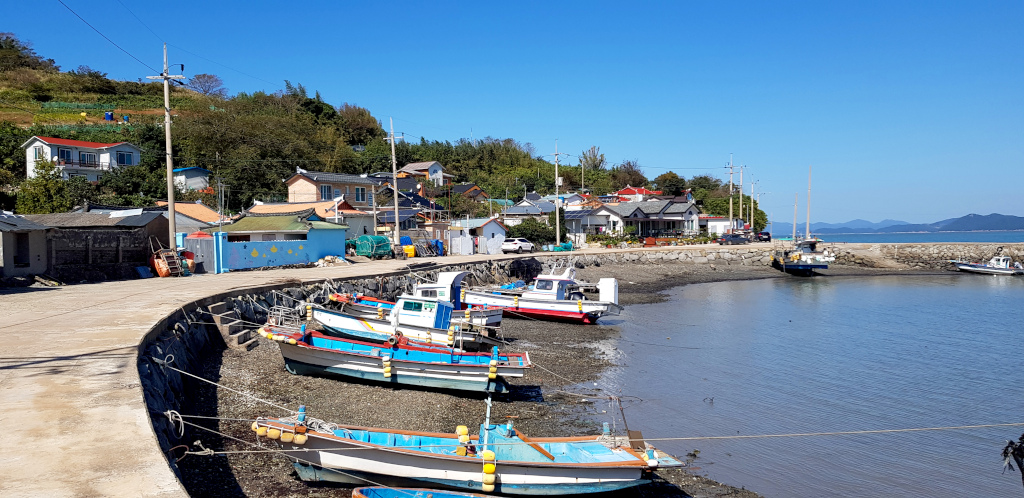
[{"label": "clear deep-blue sky above the hill and sea", "polygon": [[[59,2],[14,3],[37,20],[0,31],[62,69],[156,74]],[[798,193],[803,219],[808,165],[819,221],[1024,215],[1021,1],[65,3],[158,70],[167,41],[231,93],[287,79],[407,135],[598,146],[651,178],[727,178],[732,153],[774,219]]]}]

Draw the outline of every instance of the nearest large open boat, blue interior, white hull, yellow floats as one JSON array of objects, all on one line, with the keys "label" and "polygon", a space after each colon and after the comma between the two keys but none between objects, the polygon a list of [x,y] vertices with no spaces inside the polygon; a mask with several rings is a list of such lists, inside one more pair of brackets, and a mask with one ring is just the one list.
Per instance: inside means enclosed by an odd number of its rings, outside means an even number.
[{"label": "nearest large open boat, blue interior, white hull, yellow floats", "polygon": [[507,424],[460,425],[455,433],[420,432],[327,423],[305,407],[287,418],[260,417],[260,440],[291,457],[305,481],[385,486],[429,486],[509,495],[573,495],[631,488],[655,468],[683,462],[642,434],[527,438]]}]

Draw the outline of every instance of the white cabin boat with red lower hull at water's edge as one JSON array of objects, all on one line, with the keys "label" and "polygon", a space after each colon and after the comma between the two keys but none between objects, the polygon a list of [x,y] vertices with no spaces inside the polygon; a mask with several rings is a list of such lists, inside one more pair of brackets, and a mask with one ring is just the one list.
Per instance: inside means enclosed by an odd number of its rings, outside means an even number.
[{"label": "white cabin boat with red lower hull at water's edge", "polygon": [[571,267],[560,275],[540,275],[527,289],[467,289],[463,281],[468,275],[469,272],[441,272],[436,283],[417,284],[414,294],[450,298],[457,308],[496,306],[504,310],[505,317],[583,324],[597,323],[600,317],[618,315],[623,309],[618,305],[615,279],[601,279],[595,286],[600,300],[590,300],[584,295],[582,284],[574,280]]}]

